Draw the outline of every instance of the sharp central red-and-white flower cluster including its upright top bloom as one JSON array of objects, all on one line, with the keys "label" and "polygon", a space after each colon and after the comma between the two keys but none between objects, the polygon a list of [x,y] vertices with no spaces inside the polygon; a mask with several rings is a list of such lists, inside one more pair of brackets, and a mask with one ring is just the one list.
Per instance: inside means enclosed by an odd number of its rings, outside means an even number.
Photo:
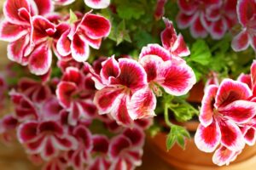
[{"label": "sharp central red-and-white flower cluster including its upright top bloom", "polygon": [[172,22],[164,19],[161,33],[163,47],[148,44],[134,59],[114,56],[102,63],[96,82],[94,103],[99,114],[110,113],[119,123],[131,126],[133,120],[154,116],[156,97],[163,88],[167,94],[183,95],[195,84],[195,74],[181,56],[189,54],[181,34],[177,36]]}]

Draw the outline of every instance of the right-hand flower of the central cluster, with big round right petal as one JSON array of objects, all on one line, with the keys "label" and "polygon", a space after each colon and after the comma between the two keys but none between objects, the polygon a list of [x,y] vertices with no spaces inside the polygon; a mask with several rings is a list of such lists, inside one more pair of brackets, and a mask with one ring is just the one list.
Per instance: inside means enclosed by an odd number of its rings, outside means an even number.
[{"label": "right-hand flower of the central cluster, with big round right petal", "polygon": [[165,48],[148,44],[142,49],[139,63],[148,76],[148,87],[158,94],[158,86],[167,94],[183,95],[195,84],[195,74],[183,59],[172,58]]}]

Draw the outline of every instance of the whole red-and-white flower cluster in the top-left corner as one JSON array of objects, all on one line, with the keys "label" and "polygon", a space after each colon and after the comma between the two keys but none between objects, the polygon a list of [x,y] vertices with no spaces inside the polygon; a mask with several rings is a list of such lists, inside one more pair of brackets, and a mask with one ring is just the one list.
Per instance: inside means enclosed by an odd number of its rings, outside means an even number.
[{"label": "whole red-and-white flower cluster in the top-left corner", "polygon": [[[110,22],[97,14],[53,14],[53,2],[7,0],[3,6],[0,38],[8,41],[9,59],[28,65],[36,75],[44,75],[52,63],[52,52],[59,59],[85,61],[89,46],[100,48],[110,32]],[[75,19],[73,19],[75,18]]]}]

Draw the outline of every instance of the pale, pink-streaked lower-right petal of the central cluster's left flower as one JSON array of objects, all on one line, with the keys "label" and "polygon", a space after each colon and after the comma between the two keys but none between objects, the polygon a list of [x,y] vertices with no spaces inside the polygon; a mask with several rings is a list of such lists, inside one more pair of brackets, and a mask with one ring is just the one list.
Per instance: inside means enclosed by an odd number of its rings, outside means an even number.
[{"label": "pale, pink-streaked lower-right petal of the central cluster's left flower", "polygon": [[156,98],[149,88],[138,90],[127,105],[132,120],[155,116]]}]

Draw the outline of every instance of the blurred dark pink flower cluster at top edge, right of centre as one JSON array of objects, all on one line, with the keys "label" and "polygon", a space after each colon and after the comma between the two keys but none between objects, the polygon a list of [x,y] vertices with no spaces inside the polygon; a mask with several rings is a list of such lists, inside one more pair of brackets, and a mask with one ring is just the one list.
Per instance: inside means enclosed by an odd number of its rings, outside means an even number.
[{"label": "blurred dark pink flower cluster at top edge, right of centre", "polygon": [[177,26],[180,29],[189,27],[192,37],[210,34],[213,39],[220,39],[237,22],[236,1],[178,0]]}]

